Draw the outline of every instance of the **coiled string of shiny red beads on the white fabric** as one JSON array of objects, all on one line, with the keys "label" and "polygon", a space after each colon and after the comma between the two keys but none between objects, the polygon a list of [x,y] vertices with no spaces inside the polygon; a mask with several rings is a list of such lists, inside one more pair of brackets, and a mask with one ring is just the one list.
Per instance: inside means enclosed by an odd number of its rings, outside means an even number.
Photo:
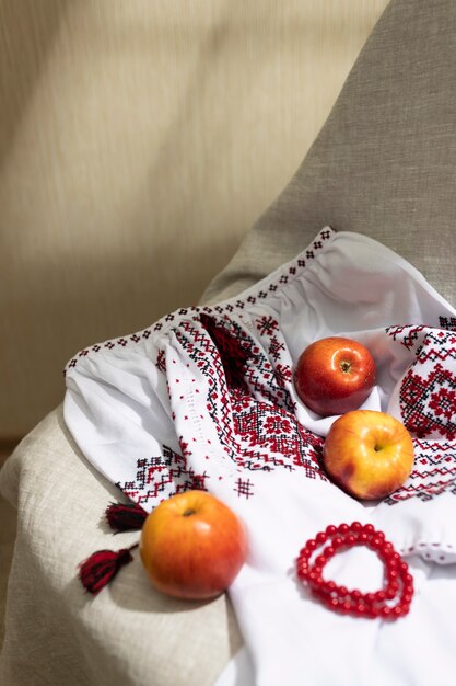
[{"label": "coiled string of shiny red beads on the white fabric", "polygon": [[[311,557],[325,546],[313,562]],[[385,584],[375,593],[362,593],[323,578],[325,564],[341,550],[352,546],[366,546],[374,550],[385,565]],[[315,538],[306,542],[296,562],[297,576],[311,588],[314,596],[327,607],[344,615],[382,619],[398,619],[410,609],[413,596],[413,578],[407,562],[396,552],[393,545],[385,540],[383,531],[377,531],[372,524],[329,525]]]}]

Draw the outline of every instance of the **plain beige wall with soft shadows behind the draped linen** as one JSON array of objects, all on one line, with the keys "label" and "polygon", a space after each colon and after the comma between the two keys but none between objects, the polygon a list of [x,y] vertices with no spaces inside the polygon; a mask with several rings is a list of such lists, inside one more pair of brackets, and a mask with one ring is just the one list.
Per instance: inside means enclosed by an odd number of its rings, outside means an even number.
[{"label": "plain beige wall with soft shadows behind the draped linen", "polygon": [[0,0],[0,438],[74,352],[198,300],[386,4]]}]

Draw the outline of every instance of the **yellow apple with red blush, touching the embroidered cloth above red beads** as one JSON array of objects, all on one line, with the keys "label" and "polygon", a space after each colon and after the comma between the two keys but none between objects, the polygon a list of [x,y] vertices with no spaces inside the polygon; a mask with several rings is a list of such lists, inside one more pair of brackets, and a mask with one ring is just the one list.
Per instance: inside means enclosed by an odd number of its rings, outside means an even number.
[{"label": "yellow apple with red blush, touching the embroidered cloth above red beads", "polygon": [[390,414],[354,410],[334,422],[323,459],[328,476],[344,491],[360,500],[379,500],[408,479],[413,442]]}]

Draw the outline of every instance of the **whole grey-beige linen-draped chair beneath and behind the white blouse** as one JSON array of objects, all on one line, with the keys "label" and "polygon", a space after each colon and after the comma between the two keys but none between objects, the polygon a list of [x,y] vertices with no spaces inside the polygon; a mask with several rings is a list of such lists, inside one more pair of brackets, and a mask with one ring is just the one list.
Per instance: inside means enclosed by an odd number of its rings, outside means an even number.
[{"label": "whole grey-beige linen-draped chair beneath and behind the white blouse", "polygon": [[[329,224],[397,251],[456,305],[455,30],[449,0],[393,0],[295,176],[203,302],[241,293]],[[2,683],[217,681],[243,642],[227,595],[165,598],[139,564],[94,599],[82,593],[78,563],[116,547],[101,517],[118,492],[74,445],[61,407],[16,448],[0,485],[19,512]]]}]

